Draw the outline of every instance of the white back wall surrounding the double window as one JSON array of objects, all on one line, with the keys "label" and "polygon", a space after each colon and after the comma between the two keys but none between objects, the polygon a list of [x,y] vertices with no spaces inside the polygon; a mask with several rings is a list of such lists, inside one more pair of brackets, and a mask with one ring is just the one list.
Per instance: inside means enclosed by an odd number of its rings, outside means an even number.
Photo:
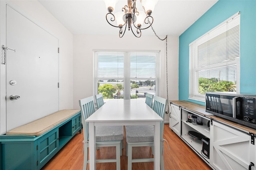
[{"label": "white back wall surrounding the double window", "polygon": [[[168,37],[169,100],[178,100],[178,44],[178,37]],[[74,35],[74,109],[80,109],[79,99],[93,95],[93,49],[161,50],[160,97],[167,99],[165,40],[160,41],[156,36],[143,35],[136,38],[128,33],[119,38],[118,31],[115,36]],[[169,115],[166,115],[166,121],[168,120]]]}]

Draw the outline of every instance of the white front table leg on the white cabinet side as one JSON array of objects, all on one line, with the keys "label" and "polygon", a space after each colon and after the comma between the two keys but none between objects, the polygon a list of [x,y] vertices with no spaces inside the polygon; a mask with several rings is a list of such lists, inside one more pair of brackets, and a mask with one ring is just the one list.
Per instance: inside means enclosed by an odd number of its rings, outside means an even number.
[{"label": "white front table leg on the white cabinet side", "polygon": [[160,170],[160,122],[155,122],[154,170]]}]

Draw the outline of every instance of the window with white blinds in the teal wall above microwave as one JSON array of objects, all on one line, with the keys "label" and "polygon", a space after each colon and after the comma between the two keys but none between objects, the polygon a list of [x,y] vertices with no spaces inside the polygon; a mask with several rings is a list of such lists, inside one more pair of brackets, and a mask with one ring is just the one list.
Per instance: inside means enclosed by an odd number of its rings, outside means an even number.
[{"label": "window with white blinds in the teal wall above microwave", "polygon": [[189,98],[204,101],[208,91],[239,92],[239,12],[190,43]]}]

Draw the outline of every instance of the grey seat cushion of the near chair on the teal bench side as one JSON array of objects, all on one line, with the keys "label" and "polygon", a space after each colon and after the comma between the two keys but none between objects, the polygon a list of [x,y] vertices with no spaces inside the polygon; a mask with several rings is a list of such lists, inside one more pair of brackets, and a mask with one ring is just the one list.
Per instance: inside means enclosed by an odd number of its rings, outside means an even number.
[{"label": "grey seat cushion of the near chair on the teal bench side", "polygon": [[96,141],[123,140],[123,126],[99,126],[96,127]]}]

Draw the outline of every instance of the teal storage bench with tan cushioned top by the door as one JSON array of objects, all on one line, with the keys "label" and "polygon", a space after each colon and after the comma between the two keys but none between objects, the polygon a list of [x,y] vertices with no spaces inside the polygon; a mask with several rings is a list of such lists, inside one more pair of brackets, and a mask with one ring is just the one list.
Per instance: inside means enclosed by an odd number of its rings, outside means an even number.
[{"label": "teal storage bench with tan cushioned top by the door", "polygon": [[80,110],[62,110],[0,136],[0,169],[42,168],[77,132]]}]

